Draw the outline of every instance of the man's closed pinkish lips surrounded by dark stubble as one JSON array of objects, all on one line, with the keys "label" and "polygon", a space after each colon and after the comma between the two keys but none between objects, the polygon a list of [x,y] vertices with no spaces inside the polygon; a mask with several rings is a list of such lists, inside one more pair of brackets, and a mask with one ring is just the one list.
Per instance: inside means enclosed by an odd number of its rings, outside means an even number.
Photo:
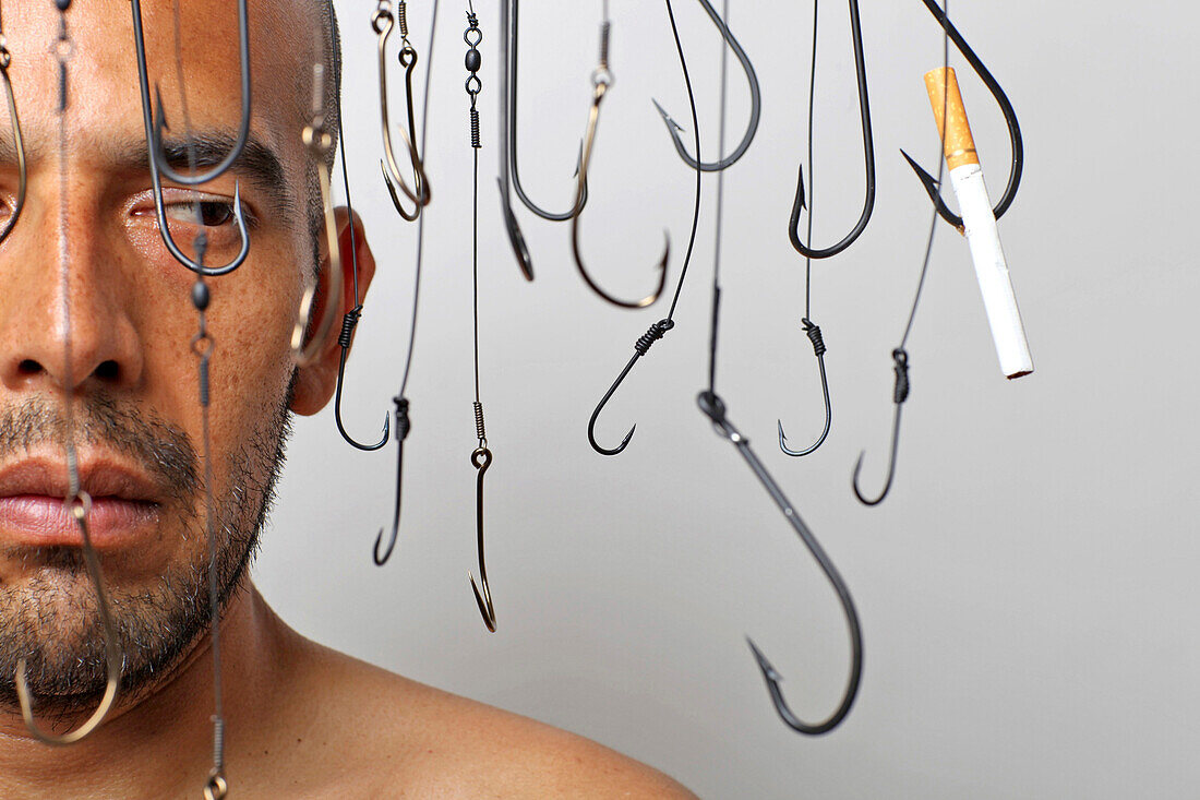
[{"label": "man's closed pinkish lips surrounded by dark stubble", "polygon": [[[140,471],[80,453],[79,486],[91,497],[88,531],[97,549],[128,547],[157,529],[161,494]],[[0,541],[18,547],[82,545],[79,526],[62,502],[67,492],[61,454],[0,467]]]}]

